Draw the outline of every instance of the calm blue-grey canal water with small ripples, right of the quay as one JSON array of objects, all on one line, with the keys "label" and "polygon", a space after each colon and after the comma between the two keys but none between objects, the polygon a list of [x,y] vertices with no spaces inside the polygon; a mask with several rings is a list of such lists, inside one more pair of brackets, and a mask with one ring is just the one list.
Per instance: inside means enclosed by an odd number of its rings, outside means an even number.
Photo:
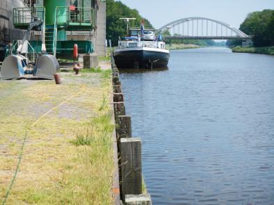
[{"label": "calm blue-grey canal water with small ripples, right of the quay", "polygon": [[121,72],[154,204],[274,204],[274,56],[170,51]]}]

